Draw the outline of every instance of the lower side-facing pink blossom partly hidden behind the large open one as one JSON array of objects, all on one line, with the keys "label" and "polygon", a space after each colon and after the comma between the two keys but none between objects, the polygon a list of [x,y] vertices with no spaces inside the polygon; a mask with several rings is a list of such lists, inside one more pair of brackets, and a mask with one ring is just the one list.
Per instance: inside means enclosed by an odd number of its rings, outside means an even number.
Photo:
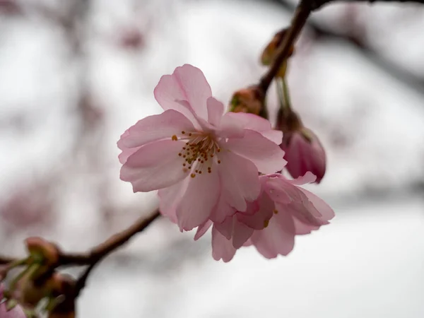
[{"label": "lower side-facing pink blossom partly hidden behind the large open one", "polygon": [[287,255],[293,250],[295,235],[317,230],[334,217],[334,211],[322,199],[298,187],[314,182],[312,173],[295,180],[278,174],[263,175],[260,179],[261,195],[248,204],[247,211],[235,211],[223,223],[209,220],[198,228],[195,240],[213,225],[214,259],[230,261],[237,249],[249,245],[268,259]]}]

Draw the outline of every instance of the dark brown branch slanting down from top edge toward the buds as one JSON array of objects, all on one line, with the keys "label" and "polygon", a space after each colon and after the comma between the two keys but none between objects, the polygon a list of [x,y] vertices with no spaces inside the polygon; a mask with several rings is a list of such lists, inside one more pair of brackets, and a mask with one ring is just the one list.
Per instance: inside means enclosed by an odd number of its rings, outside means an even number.
[{"label": "dark brown branch slanting down from top edge toward the buds", "polygon": [[283,41],[281,41],[281,45],[278,46],[276,52],[276,58],[273,59],[271,66],[268,71],[261,77],[258,87],[261,90],[261,93],[265,96],[266,91],[268,90],[273,78],[277,75],[278,70],[280,69],[281,64],[288,58],[288,54],[290,53],[290,47],[293,46],[295,40],[298,38],[300,31],[306,23],[307,18],[310,16],[312,12],[312,1],[302,0],[296,8],[295,14],[293,16],[293,20],[290,28]]}]

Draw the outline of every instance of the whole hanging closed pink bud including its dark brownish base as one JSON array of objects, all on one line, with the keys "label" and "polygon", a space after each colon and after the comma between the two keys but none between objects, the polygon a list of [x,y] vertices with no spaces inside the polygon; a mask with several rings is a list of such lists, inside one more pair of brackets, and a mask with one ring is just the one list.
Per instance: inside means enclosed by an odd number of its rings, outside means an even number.
[{"label": "whole hanging closed pink bud including its dark brownish base", "polygon": [[318,137],[303,126],[298,114],[292,110],[280,110],[278,113],[278,129],[283,131],[281,149],[287,160],[285,169],[293,178],[312,172],[321,182],[326,170],[326,155]]}]

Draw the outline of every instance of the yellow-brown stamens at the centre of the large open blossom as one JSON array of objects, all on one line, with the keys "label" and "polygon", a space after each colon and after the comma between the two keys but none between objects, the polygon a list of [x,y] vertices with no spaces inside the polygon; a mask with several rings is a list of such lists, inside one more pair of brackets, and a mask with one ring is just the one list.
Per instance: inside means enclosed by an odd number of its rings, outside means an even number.
[{"label": "yellow-brown stamens at the centre of the large open blossom", "polygon": [[[191,171],[190,177],[192,178],[202,173],[212,173],[213,161],[217,159],[215,155],[220,152],[215,138],[211,134],[203,132],[186,133],[182,131],[181,133],[184,136],[180,140],[186,141],[185,146],[178,153],[179,157],[183,159],[182,171]],[[177,140],[177,136],[172,136],[172,140]],[[216,160],[216,162],[219,164],[220,160]]]}]

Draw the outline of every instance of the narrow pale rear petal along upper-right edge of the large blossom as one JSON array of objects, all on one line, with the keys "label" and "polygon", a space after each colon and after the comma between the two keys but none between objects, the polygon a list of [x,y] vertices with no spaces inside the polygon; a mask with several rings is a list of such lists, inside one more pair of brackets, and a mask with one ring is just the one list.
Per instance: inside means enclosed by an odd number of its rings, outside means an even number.
[{"label": "narrow pale rear petal along upper-right edge of the large blossom", "polygon": [[279,145],[283,141],[283,133],[271,128],[271,122],[255,114],[245,112],[228,112],[225,116],[239,122],[243,128],[259,132],[266,139]]}]

